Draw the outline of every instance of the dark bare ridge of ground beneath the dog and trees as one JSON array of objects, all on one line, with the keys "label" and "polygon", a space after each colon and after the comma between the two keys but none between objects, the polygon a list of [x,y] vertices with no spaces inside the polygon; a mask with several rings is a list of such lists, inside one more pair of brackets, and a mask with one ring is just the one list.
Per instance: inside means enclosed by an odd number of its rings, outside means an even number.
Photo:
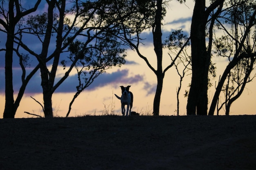
[{"label": "dark bare ridge of ground beneath the dog and trees", "polygon": [[1,170],[255,170],[256,116],[0,119]]}]

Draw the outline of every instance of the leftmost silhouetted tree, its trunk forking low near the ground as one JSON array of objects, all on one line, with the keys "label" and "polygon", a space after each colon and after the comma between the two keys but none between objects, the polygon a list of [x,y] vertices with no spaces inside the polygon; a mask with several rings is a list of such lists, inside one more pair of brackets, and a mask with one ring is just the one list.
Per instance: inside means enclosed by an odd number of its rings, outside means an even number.
[{"label": "leftmost silhouetted tree, its trunk forking low near the ground", "polygon": [[[13,72],[12,72],[12,64],[13,64],[13,47],[14,47],[14,40],[15,36],[18,34],[16,33],[15,27],[17,26],[18,22],[22,20],[23,17],[29,15],[36,11],[38,5],[40,4],[41,0],[37,0],[33,2],[34,7],[31,9],[26,10],[22,7],[19,0],[10,0],[8,1],[8,9],[6,9],[6,3],[4,0],[1,0],[0,5],[0,24],[4,27],[0,29],[0,31],[6,33],[7,40],[5,43],[5,106],[4,106],[4,113],[3,118],[14,118],[16,110],[20,104],[20,100],[24,94],[25,88],[27,83],[29,82],[30,78],[36,73],[38,67],[36,67],[31,73],[25,77],[25,66],[24,66],[24,58],[22,55],[19,54],[20,57],[20,66],[22,68],[22,85],[20,87],[20,91],[16,100],[14,101],[13,97]],[[6,6],[5,6],[6,5]],[[16,51],[18,52],[18,51]]]}]

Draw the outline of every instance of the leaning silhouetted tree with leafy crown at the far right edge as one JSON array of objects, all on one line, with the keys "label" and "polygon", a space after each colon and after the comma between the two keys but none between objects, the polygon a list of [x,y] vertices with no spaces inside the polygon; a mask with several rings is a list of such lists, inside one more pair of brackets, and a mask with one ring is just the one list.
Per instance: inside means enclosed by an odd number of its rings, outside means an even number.
[{"label": "leaning silhouetted tree with leafy crown at the far right edge", "polygon": [[[236,0],[230,1],[226,5],[226,9],[223,11],[223,17],[217,20],[218,29],[225,31],[226,36],[218,38],[215,44],[216,53],[220,56],[228,57],[229,64],[222,73],[218,86],[216,87],[216,92],[209,109],[209,115],[214,114],[225,81],[227,84],[225,87],[226,95],[224,104],[226,104],[226,115],[228,115],[231,104],[241,95],[245,84],[254,77],[250,78],[256,57],[255,1]],[[228,29],[229,26],[232,29]],[[243,73],[243,77],[240,77],[242,75],[239,72]],[[229,86],[230,80],[237,81],[237,86]],[[230,88],[234,89],[231,90]],[[234,92],[236,91],[237,94],[235,95]]]}]

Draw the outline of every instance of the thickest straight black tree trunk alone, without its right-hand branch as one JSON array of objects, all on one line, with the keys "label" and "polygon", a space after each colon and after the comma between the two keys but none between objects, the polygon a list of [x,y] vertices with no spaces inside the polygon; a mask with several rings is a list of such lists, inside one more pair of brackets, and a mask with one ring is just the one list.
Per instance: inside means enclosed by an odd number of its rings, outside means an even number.
[{"label": "thickest straight black tree trunk alone, without its right-hand branch", "polygon": [[205,43],[205,0],[196,0],[191,23],[192,80],[187,115],[207,115],[209,55]]}]

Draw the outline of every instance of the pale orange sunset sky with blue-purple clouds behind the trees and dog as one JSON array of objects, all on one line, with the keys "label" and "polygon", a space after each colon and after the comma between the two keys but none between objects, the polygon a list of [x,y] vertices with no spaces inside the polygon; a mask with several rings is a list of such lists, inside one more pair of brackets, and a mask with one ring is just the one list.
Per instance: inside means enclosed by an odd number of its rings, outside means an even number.
[{"label": "pale orange sunset sky with blue-purple clouds behind the trees and dog", "polygon": [[[25,2],[25,1],[24,1]],[[40,10],[46,9],[44,1],[41,2]],[[184,33],[189,35],[191,17],[193,14],[193,0],[187,0],[185,4],[180,4],[176,0],[170,1],[167,7],[166,17],[164,18],[162,27],[162,40],[165,40],[168,34],[175,29],[182,29]],[[156,56],[153,50],[153,38],[151,31],[146,31],[142,34],[145,45],[140,46],[141,53],[148,58],[150,64],[156,65]],[[4,48],[6,35],[0,33],[0,48]],[[27,40],[30,44],[33,44],[33,40]],[[40,50],[40,44],[33,44],[34,49]],[[168,50],[163,53],[163,66],[167,66],[171,63],[171,59],[168,55]],[[190,53],[190,51],[188,51]],[[18,65],[18,57],[14,55],[13,58],[13,86],[15,94],[18,93],[20,88],[20,67]],[[30,58],[36,61],[35,58]],[[212,83],[218,82],[218,78],[225,69],[225,65],[228,61],[222,57],[213,57],[213,62],[216,63],[217,76],[215,79],[211,78]],[[29,68],[27,68],[29,69]],[[58,69],[58,76],[63,75],[62,66]],[[186,115],[186,101],[184,97],[185,90],[189,90],[189,83],[191,81],[191,75],[185,77],[182,82],[182,89],[180,92],[180,115]],[[31,97],[38,100],[43,104],[42,88],[40,86],[40,73],[39,71],[29,82],[25,94],[20,102],[20,106],[16,112],[15,117],[33,117],[27,115],[24,112],[34,113],[43,116],[42,108]],[[4,52],[0,52],[0,118],[4,111]],[[69,103],[72,100],[76,92],[77,76],[75,71],[70,75],[68,79],[57,89],[53,95],[52,106],[54,108],[54,116],[65,117],[67,114]],[[82,116],[82,115],[102,115],[106,111],[110,113],[110,110],[115,110],[115,114],[121,115],[121,103],[120,100],[115,97],[114,94],[121,96],[121,88],[119,86],[130,85],[130,91],[134,95],[134,103],[132,111],[151,115],[153,112],[153,99],[155,95],[157,80],[155,74],[148,68],[144,60],[139,58],[135,51],[127,50],[126,64],[119,67],[113,67],[108,69],[106,73],[100,75],[95,81],[83,91],[78,98],[76,98],[72,105],[70,117]],[[160,115],[177,115],[175,110],[177,109],[176,90],[179,85],[179,77],[175,68],[170,68],[164,78],[164,86],[162,91],[161,103],[160,103]],[[208,96],[209,102],[215,92],[214,86],[209,89]],[[245,91],[239,99],[237,99],[231,106],[230,115],[252,115],[256,112],[255,109],[255,81],[247,84]],[[31,97],[30,97],[31,96]],[[16,95],[15,95],[16,98]],[[209,103],[210,104],[210,103]],[[221,114],[225,114],[222,110]],[[215,114],[216,115],[216,114]]]}]

